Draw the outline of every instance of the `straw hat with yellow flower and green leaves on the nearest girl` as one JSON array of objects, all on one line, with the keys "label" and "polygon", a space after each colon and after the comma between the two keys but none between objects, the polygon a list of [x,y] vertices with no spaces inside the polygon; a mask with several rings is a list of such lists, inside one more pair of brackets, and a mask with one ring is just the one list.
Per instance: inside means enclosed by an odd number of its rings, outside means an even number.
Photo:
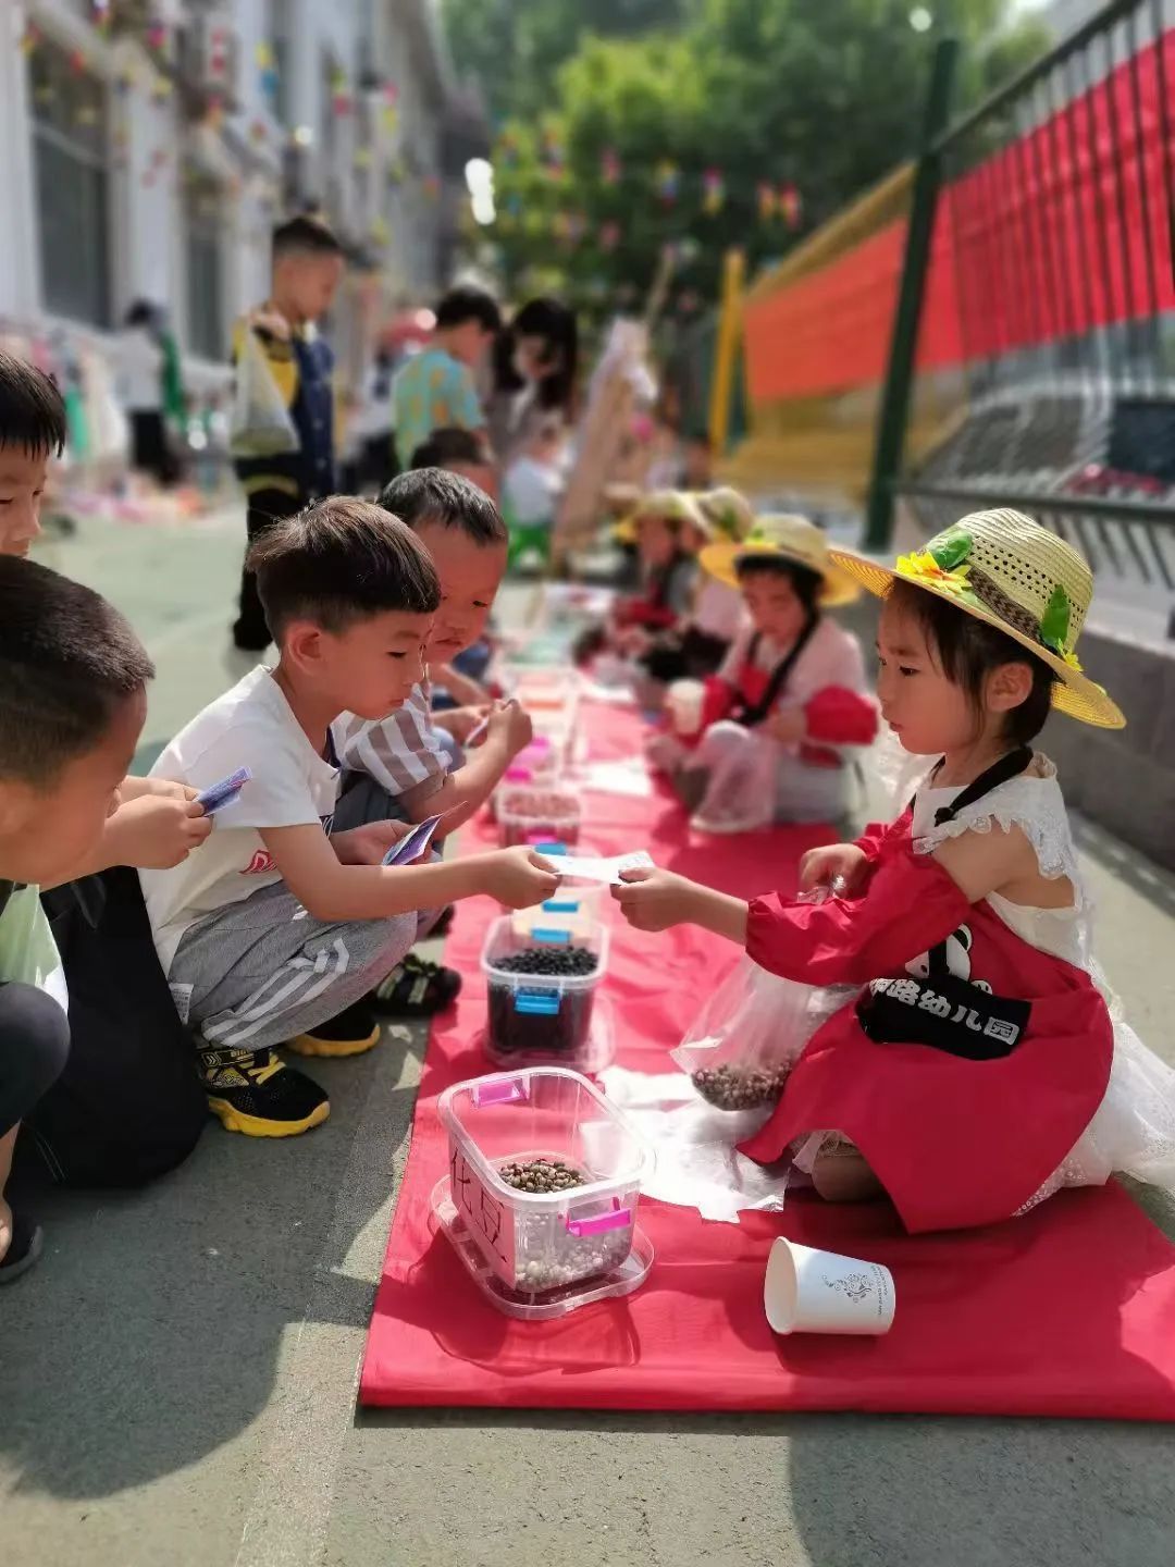
[{"label": "straw hat with yellow flower and green leaves on the nearest girl", "polygon": [[884,599],[913,583],[1004,632],[1056,674],[1053,707],[1083,724],[1125,729],[1117,702],[1083,674],[1076,641],[1094,597],[1094,575],[1078,552],[1018,511],[973,511],[924,550],[877,566],[832,550],[841,570]]}]

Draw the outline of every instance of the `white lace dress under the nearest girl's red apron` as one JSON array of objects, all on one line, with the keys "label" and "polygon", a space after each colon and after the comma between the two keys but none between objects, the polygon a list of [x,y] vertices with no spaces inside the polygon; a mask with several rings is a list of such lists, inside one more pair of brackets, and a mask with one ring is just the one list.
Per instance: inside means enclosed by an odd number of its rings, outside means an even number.
[{"label": "white lace dress under the nearest girl's red apron", "polygon": [[1020,1211],[1028,1211],[1062,1186],[1100,1186],[1115,1172],[1175,1191],[1175,1070],[1142,1044],[1094,962],[1092,904],[1083,884],[1056,768],[1039,755],[1032,771],[1001,784],[974,805],[964,807],[954,821],[935,827],[935,813],[959,793],[957,788],[932,787],[918,791],[913,813],[916,851],[931,854],[946,838],[964,832],[1018,826],[1036,849],[1040,874],[1050,881],[1068,879],[1073,906],[1032,909],[996,893],[987,901],[1021,940],[1090,975],[1106,998],[1114,1025],[1114,1064],[1097,1114],[1068,1158]]}]

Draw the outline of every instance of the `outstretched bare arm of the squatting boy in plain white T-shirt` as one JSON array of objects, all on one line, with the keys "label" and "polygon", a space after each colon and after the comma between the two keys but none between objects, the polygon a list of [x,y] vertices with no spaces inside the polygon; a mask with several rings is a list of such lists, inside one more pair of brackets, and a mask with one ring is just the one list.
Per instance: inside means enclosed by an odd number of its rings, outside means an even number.
[{"label": "outstretched bare arm of the squatting boy in plain white T-shirt", "polygon": [[282,879],[315,920],[390,920],[486,893],[511,909],[544,903],[559,885],[533,849],[497,849],[436,865],[342,865],[321,826],[262,827]]}]

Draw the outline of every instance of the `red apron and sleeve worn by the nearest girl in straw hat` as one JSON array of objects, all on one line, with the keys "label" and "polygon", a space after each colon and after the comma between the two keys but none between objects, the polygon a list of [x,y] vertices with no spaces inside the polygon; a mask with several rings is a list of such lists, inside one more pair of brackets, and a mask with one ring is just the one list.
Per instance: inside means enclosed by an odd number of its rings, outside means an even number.
[{"label": "red apron and sleeve worn by the nearest girl in straw hat", "polygon": [[[755,899],[747,951],[808,984],[926,973],[943,943],[953,975],[1029,1003],[1015,1048],[974,1061],[924,1044],[877,1044],[855,1001],[808,1042],[776,1113],[743,1152],[774,1163],[799,1138],[857,1144],[907,1230],[992,1224],[1058,1169],[1106,1092],[1114,1030],[1087,973],[1031,946],[987,903],[968,904],[932,857],[915,856],[909,812],[885,834],[866,895],[824,904]],[[909,989],[902,986],[904,990]]]}]

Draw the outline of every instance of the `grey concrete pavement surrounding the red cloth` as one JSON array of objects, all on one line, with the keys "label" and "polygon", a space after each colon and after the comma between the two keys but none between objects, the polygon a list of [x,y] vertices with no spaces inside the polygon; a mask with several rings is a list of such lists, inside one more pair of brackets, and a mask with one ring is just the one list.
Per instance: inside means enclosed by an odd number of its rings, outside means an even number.
[{"label": "grey concrete pavement surrounding the red cloth", "polygon": [[[86,527],[55,564],[160,668],[143,755],[222,688],[243,527]],[[1175,881],[1083,829],[1100,956],[1169,1059]],[[331,1120],[210,1125],[141,1194],[53,1196],[0,1296],[5,1567],[1166,1567],[1167,1428],[356,1413],[423,1037],[316,1064]],[[1156,1210],[1169,1233],[1172,1216]],[[1095,1260],[1092,1260],[1095,1266]]]}]

